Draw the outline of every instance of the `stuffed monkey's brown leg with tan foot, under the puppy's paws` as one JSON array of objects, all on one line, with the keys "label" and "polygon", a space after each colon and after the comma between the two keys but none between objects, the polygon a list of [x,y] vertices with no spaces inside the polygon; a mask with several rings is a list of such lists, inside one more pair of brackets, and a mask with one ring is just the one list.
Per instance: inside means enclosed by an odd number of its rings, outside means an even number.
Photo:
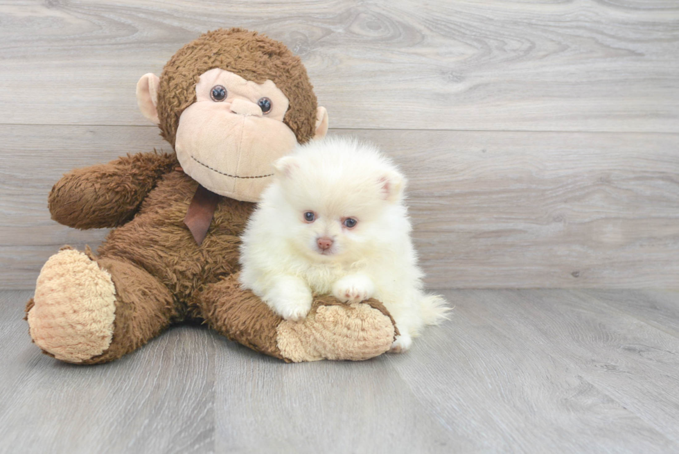
[{"label": "stuffed monkey's brown leg with tan foot, under the puppy's paws", "polygon": [[385,353],[399,335],[394,318],[376,299],[343,304],[317,296],[306,317],[283,320],[237,274],[211,283],[195,295],[201,317],[231,340],[282,360],[367,360]]}]

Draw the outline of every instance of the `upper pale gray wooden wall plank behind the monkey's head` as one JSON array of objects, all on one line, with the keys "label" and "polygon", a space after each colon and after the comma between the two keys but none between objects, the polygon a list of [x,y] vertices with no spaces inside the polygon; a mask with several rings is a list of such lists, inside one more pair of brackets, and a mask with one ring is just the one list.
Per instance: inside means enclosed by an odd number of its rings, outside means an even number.
[{"label": "upper pale gray wooden wall plank behind the monkey's head", "polygon": [[144,125],[134,87],[205,30],[301,55],[334,128],[679,131],[679,6],[5,1],[0,123]]}]

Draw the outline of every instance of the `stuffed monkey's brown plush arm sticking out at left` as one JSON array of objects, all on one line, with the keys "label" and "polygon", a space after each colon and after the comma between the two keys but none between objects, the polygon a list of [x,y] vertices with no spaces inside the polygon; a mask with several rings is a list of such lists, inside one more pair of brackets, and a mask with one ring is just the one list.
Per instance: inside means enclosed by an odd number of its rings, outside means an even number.
[{"label": "stuffed monkey's brown plush arm sticking out at left", "polygon": [[78,168],[53,186],[48,198],[52,219],[76,229],[124,224],[160,177],[178,165],[174,154],[152,152]]}]

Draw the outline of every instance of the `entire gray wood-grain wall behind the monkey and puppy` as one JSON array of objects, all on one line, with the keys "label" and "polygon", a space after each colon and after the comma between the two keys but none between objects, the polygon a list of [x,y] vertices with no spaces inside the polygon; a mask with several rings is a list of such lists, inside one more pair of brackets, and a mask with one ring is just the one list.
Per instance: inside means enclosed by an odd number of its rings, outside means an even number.
[{"label": "entire gray wood-grain wall behind the monkey and puppy", "polygon": [[52,184],[168,150],[136,80],[237,25],[403,166],[433,288],[679,287],[675,1],[0,0],[0,288],[101,241],[49,219]]}]

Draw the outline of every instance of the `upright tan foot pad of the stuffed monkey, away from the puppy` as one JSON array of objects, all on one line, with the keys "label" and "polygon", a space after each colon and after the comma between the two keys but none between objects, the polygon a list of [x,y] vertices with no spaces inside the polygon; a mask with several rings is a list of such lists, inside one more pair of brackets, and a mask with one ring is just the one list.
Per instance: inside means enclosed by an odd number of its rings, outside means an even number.
[{"label": "upright tan foot pad of the stuffed monkey, away from the puppy", "polygon": [[111,275],[86,254],[64,248],[37,278],[27,315],[30,337],[58,360],[80,363],[111,344],[115,309]]}]

